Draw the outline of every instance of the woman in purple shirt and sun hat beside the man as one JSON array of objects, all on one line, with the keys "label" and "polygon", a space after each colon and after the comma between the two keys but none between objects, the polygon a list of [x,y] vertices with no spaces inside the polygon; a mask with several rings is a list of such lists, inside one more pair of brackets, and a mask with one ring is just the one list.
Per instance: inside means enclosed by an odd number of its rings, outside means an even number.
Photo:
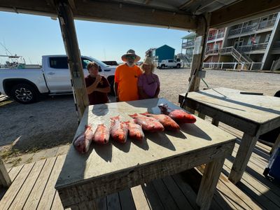
[{"label": "woman in purple shirt and sun hat beside the man", "polygon": [[153,73],[155,65],[151,57],[146,57],[141,65],[143,74],[138,78],[139,99],[157,98],[160,93],[160,80],[158,75]]}]

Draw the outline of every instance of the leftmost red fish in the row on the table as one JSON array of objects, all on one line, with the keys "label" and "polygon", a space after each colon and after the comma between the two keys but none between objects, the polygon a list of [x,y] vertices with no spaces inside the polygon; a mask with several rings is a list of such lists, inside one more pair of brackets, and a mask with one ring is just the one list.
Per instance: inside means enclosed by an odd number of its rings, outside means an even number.
[{"label": "leftmost red fish in the row on the table", "polygon": [[94,133],[90,125],[85,125],[85,132],[80,134],[74,141],[73,145],[79,153],[87,153],[90,148]]}]

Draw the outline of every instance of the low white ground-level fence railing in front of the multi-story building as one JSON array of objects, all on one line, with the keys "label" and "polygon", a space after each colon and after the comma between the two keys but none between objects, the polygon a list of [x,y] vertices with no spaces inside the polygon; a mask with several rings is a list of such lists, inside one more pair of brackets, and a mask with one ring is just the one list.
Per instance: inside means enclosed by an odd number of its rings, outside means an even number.
[{"label": "low white ground-level fence railing in front of the multi-story building", "polygon": [[204,62],[205,69],[260,70],[262,62]]}]

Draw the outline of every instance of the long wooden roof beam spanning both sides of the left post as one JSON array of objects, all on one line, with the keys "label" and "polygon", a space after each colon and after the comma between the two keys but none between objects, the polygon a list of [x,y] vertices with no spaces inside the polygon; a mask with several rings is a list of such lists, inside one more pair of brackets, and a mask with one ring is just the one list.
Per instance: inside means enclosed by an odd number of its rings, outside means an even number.
[{"label": "long wooden roof beam spanning both sides of the left post", "polygon": [[[53,8],[54,0],[45,1],[18,1],[1,0],[0,10],[34,15],[57,15]],[[137,5],[116,1],[84,1],[69,0],[73,18],[97,22],[112,22],[128,25],[144,25],[153,27],[165,27],[172,29],[196,29],[197,21],[193,15],[176,10],[154,8],[151,1],[146,5]]]}]

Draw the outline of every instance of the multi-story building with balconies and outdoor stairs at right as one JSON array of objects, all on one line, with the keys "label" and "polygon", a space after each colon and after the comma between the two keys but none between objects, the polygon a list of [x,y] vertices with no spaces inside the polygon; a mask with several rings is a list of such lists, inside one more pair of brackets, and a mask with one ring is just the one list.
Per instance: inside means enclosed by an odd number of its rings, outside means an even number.
[{"label": "multi-story building with balconies and outdoor stairs at right", "polygon": [[[237,63],[244,69],[279,69],[279,19],[280,13],[274,13],[224,29],[210,29],[204,63],[214,63],[212,66]],[[186,48],[183,43],[182,50]]]}]

